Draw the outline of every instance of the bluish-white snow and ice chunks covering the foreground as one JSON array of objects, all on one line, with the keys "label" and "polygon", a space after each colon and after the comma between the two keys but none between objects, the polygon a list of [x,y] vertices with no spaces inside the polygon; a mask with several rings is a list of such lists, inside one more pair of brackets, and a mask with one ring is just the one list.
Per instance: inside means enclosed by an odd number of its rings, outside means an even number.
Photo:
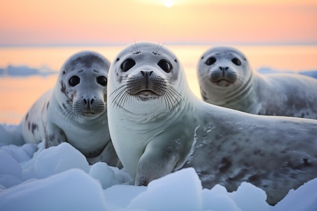
[{"label": "bluish-white snow and ice chunks covering the foreground", "polygon": [[[97,162],[68,143],[45,149],[10,145],[18,126],[1,125],[1,210],[212,210],[212,211],[310,211],[317,207],[317,179],[289,194],[275,206],[265,202],[265,192],[242,183],[228,193],[220,185],[203,189],[193,168],[154,180],[148,187],[133,186],[124,170]],[[17,139],[11,139],[19,143]]]}]

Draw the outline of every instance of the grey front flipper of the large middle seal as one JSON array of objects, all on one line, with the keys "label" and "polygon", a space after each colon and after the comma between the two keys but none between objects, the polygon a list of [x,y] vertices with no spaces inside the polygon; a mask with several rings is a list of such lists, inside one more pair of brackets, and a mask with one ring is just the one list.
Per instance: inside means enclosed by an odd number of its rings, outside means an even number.
[{"label": "grey front flipper of the large middle seal", "polygon": [[166,145],[160,140],[149,142],[138,162],[135,185],[147,186],[152,180],[172,173],[181,159],[182,149],[179,140],[170,140]]}]

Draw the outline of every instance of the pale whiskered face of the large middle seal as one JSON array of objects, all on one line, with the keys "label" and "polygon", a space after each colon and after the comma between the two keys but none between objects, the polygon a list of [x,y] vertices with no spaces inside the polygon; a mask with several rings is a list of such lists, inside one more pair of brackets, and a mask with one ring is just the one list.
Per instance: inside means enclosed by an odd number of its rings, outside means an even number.
[{"label": "pale whiskered face of the large middle seal", "polygon": [[[175,56],[163,54],[162,45],[139,49],[131,46],[131,52],[118,56],[115,63],[116,89],[111,90],[110,105],[143,113],[139,105],[162,105],[161,111],[176,111],[184,99],[175,87],[179,85],[179,68]],[[144,54],[143,52],[150,52]],[[154,67],[148,62],[155,63]],[[125,104],[129,104],[125,107]]]}]

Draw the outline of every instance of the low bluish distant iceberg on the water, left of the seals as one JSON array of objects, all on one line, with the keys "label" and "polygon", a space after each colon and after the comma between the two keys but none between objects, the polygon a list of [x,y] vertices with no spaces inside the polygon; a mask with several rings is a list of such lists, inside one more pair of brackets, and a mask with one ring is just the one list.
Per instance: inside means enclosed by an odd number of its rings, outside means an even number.
[{"label": "low bluish distant iceberg on the water, left of the seals", "polygon": [[9,65],[7,68],[0,68],[0,76],[9,77],[26,77],[32,75],[48,76],[51,74],[56,74],[56,70],[52,70],[50,67],[43,65],[40,68],[32,68],[28,66],[12,66]]}]

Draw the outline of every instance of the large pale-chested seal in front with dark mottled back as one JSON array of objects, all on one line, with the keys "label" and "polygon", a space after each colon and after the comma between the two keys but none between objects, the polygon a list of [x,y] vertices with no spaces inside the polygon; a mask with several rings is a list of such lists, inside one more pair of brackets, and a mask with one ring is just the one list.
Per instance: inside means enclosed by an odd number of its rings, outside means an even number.
[{"label": "large pale-chested seal in front with dark mottled back", "polygon": [[317,177],[317,120],[261,116],[205,103],[166,47],[126,47],[108,75],[115,151],[135,185],[193,167],[204,188],[262,188],[275,204]]}]

